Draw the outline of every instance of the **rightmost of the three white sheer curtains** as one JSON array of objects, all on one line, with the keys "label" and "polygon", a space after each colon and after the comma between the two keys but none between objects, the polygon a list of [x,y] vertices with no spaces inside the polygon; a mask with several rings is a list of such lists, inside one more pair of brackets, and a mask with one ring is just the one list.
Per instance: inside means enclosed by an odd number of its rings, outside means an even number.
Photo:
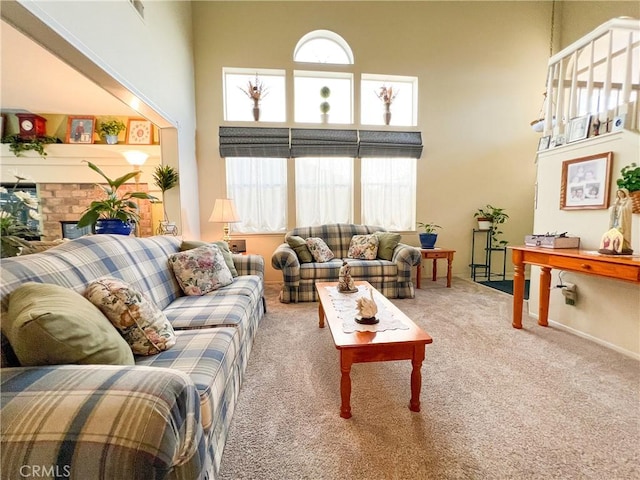
[{"label": "rightmost of the three white sheer curtains", "polygon": [[415,158],[362,159],[362,223],[415,230]]}]

